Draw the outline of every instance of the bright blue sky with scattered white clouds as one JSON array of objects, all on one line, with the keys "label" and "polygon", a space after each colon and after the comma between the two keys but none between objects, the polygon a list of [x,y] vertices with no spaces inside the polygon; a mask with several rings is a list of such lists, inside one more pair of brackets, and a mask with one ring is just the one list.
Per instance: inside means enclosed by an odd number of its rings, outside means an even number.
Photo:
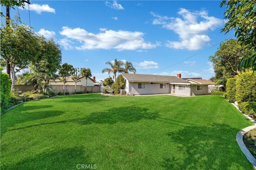
[{"label": "bright blue sky with scattered white clouds", "polygon": [[[208,57],[219,45],[208,48],[233,36],[220,33],[220,1],[30,2],[34,31],[60,44],[62,63],[90,68],[96,80],[108,77],[101,70],[115,58],[132,62],[141,74],[208,79],[214,76]],[[14,12],[17,8],[10,10],[11,17]],[[29,25],[28,7],[19,12]]]}]

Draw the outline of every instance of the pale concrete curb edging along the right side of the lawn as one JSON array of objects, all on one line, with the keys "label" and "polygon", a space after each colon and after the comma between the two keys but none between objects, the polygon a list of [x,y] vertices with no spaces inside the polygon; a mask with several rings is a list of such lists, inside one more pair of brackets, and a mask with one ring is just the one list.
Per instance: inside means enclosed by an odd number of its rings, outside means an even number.
[{"label": "pale concrete curb edging along the right side of the lawn", "polygon": [[244,153],[244,155],[246,156],[246,158],[248,159],[248,161],[251,163],[251,165],[254,167],[254,169],[256,169],[256,159],[254,158],[254,156],[251,154],[251,152],[247,149],[247,147],[244,144],[244,135],[248,131],[256,128],[256,121],[254,121],[247,114],[244,114],[234,103],[231,103],[231,104],[233,104],[233,106],[235,106],[237,110],[239,110],[245,117],[247,117],[250,121],[252,121],[254,123],[254,125],[245,127],[244,129],[240,130],[236,134],[236,142],[237,142],[238,146],[240,147],[240,149],[242,150],[242,152]]}]

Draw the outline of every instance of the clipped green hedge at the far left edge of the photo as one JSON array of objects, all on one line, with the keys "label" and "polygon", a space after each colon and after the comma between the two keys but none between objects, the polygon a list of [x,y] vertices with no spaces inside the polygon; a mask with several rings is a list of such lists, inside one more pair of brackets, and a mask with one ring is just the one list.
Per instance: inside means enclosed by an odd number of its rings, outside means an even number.
[{"label": "clipped green hedge at the far left edge of the photo", "polygon": [[9,79],[9,75],[6,73],[2,73],[1,68],[1,76],[0,76],[0,98],[1,98],[1,113],[5,109],[8,108],[9,105],[9,96],[11,90],[11,80]]}]

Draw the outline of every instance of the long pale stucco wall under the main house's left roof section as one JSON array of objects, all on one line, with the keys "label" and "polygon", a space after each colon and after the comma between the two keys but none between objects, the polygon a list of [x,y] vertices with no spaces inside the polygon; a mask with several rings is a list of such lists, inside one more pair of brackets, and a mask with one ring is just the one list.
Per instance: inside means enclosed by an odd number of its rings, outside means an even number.
[{"label": "long pale stucco wall under the main house's left roof section", "polygon": [[[161,83],[162,84],[162,83]],[[130,83],[129,92],[133,95],[138,94],[168,94],[170,93],[170,84],[165,83],[165,88],[160,89],[160,83],[145,83],[144,89],[138,89],[138,82]]]}]

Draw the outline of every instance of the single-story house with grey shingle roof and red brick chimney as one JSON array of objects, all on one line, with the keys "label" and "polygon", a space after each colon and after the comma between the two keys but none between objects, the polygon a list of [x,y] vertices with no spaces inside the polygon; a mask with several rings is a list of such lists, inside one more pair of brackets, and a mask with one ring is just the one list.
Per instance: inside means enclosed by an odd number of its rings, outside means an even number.
[{"label": "single-story house with grey shingle roof and red brick chimney", "polygon": [[[183,80],[176,76],[122,73],[126,79],[126,94],[178,94],[197,96],[208,94],[209,82]],[[207,80],[208,81],[208,80]]]}]

